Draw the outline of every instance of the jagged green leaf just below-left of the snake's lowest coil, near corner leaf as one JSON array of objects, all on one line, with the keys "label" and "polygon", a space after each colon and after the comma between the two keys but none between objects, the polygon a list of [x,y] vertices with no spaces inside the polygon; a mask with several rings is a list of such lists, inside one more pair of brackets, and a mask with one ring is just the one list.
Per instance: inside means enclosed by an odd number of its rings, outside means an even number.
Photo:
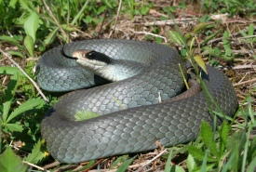
[{"label": "jagged green leaf just below-left of the snake's lowest coil, near corner leaf", "polygon": [[34,145],[32,152],[24,158],[24,161],[27,161],[32,164],[40,163],[44,158],[47,157],[48,153],[42,152],[42,145],[44,144],[44,140],[38,140]]}]

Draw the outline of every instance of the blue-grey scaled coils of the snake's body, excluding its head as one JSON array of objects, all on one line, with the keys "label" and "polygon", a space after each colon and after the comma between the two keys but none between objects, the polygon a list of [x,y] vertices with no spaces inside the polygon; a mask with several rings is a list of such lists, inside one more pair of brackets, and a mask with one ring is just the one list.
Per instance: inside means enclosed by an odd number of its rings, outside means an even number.
[{"label": "blue-grey scaled coils of the snake's body, excluding its head", "polygon": [[[36,73],[39,86],[47,91],[78,89],[64,95],[41,123],[47,150],[61,163],[148,152],[158,148],[157,142],[164,147],[185,144],[197,138],[203,121],[213,127],[211,112],[221,109],[230,117],[236,112],[235,88],[224,73],[209,65],[207,73],[201,70],[200,74],[218,105],[203,90],[168,101],[184,89],[182,71],[186,71],[186,62],[169,46],[124,39],[90,39],[65,45],[69,56],[75,50],[93,50],[115,60],[144,64],[141,73],[116,82],[63,57],[60,49],[57,46],[44,53]],[[85,110],[99,116],[76,121],[74,115]],[[222,120],[217,115],[219,124]]]}]

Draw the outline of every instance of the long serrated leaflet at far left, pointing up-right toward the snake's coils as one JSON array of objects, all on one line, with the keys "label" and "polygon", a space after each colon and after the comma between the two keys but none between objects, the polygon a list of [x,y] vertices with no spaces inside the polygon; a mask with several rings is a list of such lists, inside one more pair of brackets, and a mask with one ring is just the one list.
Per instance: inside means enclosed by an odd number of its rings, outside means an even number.
[{"label": "long serrated leaflet at far left, pointing up-right toward the snake's coils", "polygon": [[27,101],[20,104],[20,106],[17,109],[10,113],[10,115],[7,118],[7,123],[16,116],[18,116],[20,113],[33,110],[35,107],[39,106],[43,102],[43,99],[40,98],[28,99]]}]

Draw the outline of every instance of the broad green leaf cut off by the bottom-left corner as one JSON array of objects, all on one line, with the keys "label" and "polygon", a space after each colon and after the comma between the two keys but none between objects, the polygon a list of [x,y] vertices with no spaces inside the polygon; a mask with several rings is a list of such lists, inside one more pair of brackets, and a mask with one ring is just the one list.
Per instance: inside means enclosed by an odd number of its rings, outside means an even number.
[{"label": "broad green leaf cut off by the bottom-left corner", "polygon": [[27,165],[23,164],[19,156],[7,147],[6,151],[0,155],[0,169],[5,172],[25,172],[27,170]]}]

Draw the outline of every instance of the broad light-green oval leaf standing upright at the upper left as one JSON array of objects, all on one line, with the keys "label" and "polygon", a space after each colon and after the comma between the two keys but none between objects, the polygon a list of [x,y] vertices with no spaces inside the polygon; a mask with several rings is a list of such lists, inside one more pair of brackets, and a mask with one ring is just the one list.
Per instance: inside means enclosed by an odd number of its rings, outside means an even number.
[{"label": "broad light-green oval leaf standing upright at the upper left", "polygon": [[24,30],[27,35],[30,35],[35,43],[35,33],[39,27],[39,17],[35,12],[31,12],[30,16],[24,23]]}]

